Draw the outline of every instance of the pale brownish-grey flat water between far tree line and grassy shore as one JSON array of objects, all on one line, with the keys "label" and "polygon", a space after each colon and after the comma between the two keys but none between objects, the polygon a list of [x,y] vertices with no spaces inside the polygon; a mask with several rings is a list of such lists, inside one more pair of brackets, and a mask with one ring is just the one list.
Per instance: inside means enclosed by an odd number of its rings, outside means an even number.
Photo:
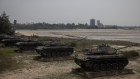
[{"label": "pale brownish-grey flat water between far tree line and grassy shore", "polygon": [[123,29],[74,29],[74,30],[17,30],[24,35],[98,40],[124,40],[140,43],[140,30]]}]

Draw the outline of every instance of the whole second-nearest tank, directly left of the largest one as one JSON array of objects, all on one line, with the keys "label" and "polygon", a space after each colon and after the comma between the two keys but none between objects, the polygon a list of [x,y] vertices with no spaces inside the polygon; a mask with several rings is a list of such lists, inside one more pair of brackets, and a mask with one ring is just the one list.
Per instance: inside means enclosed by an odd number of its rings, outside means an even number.
[{"label": "whole second-nearest tank, directly left of the largest one", "polygon": [[36,52],[43,57],[64,57],[70,56],[73,53],[73,48],[66,46],[61,42],[51,42],[47,46],[39,46]]}]

